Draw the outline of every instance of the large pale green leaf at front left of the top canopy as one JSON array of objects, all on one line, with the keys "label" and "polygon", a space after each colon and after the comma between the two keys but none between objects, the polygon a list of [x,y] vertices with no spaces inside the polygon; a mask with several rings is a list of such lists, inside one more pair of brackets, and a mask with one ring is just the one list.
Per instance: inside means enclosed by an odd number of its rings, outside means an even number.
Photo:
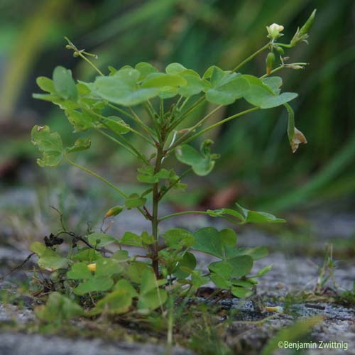
[{"label": "large pale green leaf at front left of the top canopy", "polygon": [[122,106],[141,104],[157,96],[158,87],[138,87],[137,81],[141,76],[138,70],[125,67],[111,77],[97,77],[92,92],[102,99]]}]

